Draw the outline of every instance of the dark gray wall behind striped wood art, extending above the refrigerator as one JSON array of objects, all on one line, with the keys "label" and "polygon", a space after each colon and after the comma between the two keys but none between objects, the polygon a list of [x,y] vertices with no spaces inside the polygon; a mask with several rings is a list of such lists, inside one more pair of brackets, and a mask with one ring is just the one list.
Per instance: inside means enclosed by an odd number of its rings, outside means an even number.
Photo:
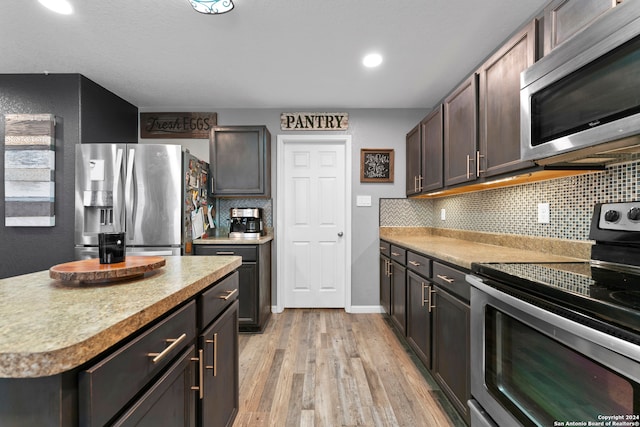
[{"label": "dark gray wall behind striped wood art, extending above the refrigerator", "polygon": [[[4,114],[56,116],[54,227],[4,226]],[[75,145],[135,142],[137,108],[80,74],[0,74],[0,278],[73,261]]]}]

